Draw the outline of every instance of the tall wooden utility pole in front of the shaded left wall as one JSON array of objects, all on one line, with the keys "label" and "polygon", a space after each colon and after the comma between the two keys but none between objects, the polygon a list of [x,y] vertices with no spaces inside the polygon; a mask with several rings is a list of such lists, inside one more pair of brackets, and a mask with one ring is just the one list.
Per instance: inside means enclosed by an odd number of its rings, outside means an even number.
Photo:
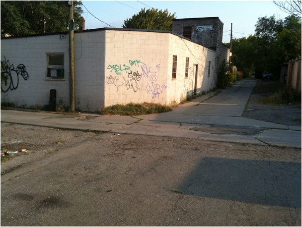
[{"label": "tall wooden utility pole in front of the shaded left wall", "polygon": [[75,110],[75,107],[74,107],[73,1],[65,1],[65,6],[69,7],[68,36],[69,36],[70,109],[73,112]]}]

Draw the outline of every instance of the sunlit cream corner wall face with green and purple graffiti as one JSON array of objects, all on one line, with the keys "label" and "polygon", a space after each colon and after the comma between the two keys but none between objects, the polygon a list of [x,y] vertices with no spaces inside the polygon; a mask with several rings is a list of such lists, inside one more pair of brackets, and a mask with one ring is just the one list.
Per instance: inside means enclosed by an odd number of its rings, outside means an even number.
[{"label": "sunlit cream corner wall face with green and purple graffiti", "polygon": [[105,106],[166,103],[168,33],[106,30]]}]

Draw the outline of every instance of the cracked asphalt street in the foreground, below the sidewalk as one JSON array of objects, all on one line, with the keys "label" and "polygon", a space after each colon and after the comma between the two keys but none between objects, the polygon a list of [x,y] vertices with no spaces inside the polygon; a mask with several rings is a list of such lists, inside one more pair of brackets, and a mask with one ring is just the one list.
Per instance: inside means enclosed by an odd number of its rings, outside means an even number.
[{"label": "cracked asphalt street in the foreground, below the sidewalk", "polygon": [[[18,143],[17,143],[18,142]],[[301,225],[298,148],[1,124],[1,225]]]}]

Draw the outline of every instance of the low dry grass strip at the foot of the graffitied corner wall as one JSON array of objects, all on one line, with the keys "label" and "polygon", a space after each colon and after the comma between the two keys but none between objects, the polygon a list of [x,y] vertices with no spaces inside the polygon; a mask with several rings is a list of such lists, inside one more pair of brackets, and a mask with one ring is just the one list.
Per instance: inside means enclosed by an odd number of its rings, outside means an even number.
[{"label": "low dry grass strip at the foot of the graffitied corner wall", "polygon": [[161,105],[157,103],[129,103],[116,104],[100,109],[102,115],[122,115],[122,116],[136,116],[149,115],[151,113],[161,113],[171,111],[172,107],[168,105]]}]

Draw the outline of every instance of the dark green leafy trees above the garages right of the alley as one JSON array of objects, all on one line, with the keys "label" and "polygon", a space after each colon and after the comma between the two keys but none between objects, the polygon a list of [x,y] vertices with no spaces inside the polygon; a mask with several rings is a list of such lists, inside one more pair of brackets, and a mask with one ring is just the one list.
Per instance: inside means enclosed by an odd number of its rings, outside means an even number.
[{"label": "dark green leafy trees above the garages right of the alley", "polygon": [[233,64],[244,77],[255,71],[261,78],[264,71],[277,79],[281,64],[298,58],[301,54],[301,18],[290,15],[284,20],[275,16],[260,17],[255,25],[255,35],[233,40]]}]

